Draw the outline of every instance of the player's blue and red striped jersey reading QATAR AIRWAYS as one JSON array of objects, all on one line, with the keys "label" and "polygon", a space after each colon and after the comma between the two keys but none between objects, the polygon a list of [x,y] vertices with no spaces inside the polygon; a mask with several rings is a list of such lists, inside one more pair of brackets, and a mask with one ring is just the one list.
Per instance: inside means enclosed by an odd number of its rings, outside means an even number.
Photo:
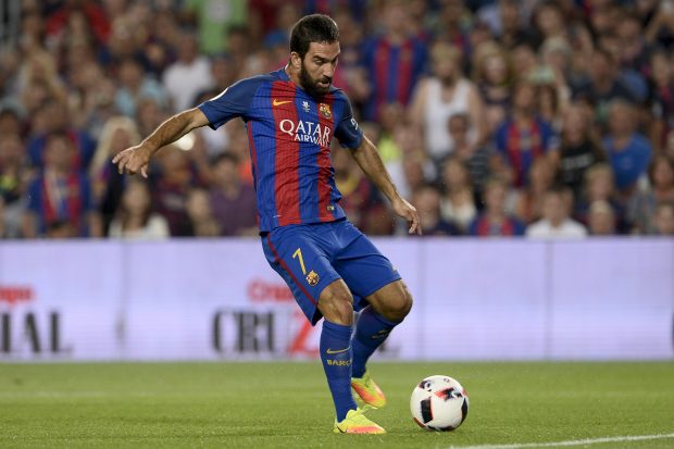
[{"label": "player's blue and red striped jersey reading QATAR AIRWAYS", "polygon": [[280,68],[242,79],[199,109],[213,129],[237,116],[246,123],[260,232],[346,216],[330,141],[355,149],[363,134],[341,90],[314,99]]}]

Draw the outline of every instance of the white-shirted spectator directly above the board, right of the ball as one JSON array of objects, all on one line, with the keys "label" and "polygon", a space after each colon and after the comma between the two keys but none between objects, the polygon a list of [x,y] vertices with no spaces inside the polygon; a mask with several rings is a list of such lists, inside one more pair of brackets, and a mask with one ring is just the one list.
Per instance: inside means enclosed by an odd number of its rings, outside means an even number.
[{"label": "white-shirted spectator directly above the board, right of the ball", "polygon": [[587,229],[569,216],[561,189],[546,192],[542,203],[542,219],[528,225],[526,236],[532,238],[578,238],[587,236]]}]

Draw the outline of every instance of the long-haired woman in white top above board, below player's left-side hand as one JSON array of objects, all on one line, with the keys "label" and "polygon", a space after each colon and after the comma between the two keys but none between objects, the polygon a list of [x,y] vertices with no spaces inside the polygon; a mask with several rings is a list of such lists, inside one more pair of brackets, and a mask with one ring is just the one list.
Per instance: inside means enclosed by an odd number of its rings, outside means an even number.
[{"label": "long-haired woman in white top above board, below player's left-side hand", "polygon": [[148,185],[130,179],[122,195],[120,207],[110,223],[108,235],[113,238],[162,239],[167,238],[168,224],[163,216],[152,212]]}]

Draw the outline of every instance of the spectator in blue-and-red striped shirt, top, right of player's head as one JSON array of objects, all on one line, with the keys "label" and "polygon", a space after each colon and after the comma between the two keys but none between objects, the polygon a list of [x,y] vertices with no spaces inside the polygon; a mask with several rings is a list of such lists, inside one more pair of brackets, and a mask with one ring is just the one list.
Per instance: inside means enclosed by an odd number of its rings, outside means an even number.
[{"label": "spectator in blue-and-red striped shirt, top, right of player's head", "polygon": [[382,9],[384,33],[363,48],[363,64],[372,79],[372,96],[363,111],[366,120],[378,120],[388,103],[407,107],[428,58],[424,42],[409,33],[409,3],[389,0]]}]

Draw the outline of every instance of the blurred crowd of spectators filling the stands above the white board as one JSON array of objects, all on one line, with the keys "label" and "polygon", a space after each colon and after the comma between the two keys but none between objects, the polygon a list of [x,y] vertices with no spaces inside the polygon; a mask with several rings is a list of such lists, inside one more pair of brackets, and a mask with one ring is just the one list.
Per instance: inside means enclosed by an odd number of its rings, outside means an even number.
[{"label": "blurred crowd of spectators filling the stands above the white board", "polygon": [[[255,235],[244,123],[111,164],[340,28],[346,91],[425,235],[674,235],[673,0],[23,0],[0,48],[0,237]],[[348,151],[342,207],[404,233]]]}]

